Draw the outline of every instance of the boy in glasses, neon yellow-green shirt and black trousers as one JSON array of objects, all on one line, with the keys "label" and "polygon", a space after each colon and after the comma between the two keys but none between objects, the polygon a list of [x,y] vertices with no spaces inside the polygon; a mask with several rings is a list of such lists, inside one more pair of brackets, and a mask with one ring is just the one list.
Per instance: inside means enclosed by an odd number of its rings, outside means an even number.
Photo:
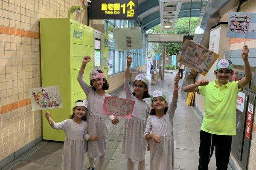
[{"label": "boy in glasses, neon yellow-green shirt and black trousers", "polygon": [[249,49],[243,46],[244,77],[237,82],[229,82],[233,75],[232,62],[221,59],[216,65],[213,82],[207,79],[187,85],[185,92],[198,92],[204,96],[205,113],[200,132],[198,170],[208,170],[208,164],[215,147],[217,170],[227,170],[232,136],[236,135],[237,94],[252,79],[248,61]]}]

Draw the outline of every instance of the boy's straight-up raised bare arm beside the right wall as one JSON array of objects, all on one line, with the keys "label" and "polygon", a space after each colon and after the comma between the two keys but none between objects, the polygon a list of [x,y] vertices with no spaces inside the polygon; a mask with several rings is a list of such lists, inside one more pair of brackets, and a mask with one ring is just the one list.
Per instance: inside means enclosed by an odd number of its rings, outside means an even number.
[{"label": "boy's straight-up raised bare arm beside the right wall", "polygon": [[253,77],[252,71],[250,69],[250,64],[248,61],[248,54],[249,54],[249,49],[247,45],[244,45],[242,49],[242,54],[241,54],[244,60],[244,77],[238,82],[239,88],[242,88],[245,85],[247,85],[252,80],[252,77]]}]

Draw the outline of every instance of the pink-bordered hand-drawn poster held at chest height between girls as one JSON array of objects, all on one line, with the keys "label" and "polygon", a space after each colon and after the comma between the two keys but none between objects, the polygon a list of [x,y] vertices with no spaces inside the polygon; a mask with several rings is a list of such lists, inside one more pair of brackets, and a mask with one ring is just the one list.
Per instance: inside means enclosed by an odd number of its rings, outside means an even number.
[{"label": "pink-bordered hand-drawn poster held at chest height between girls", "polygon": [[105,97],[103,104],[103,114],[122,116],[131,119],[134,108],[134,101],[119,97]]}]

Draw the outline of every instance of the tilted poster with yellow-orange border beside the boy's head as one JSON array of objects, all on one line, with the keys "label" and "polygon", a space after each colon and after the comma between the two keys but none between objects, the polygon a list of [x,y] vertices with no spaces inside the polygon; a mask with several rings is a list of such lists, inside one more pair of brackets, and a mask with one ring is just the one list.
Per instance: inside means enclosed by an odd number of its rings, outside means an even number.
[{"label": "tilted poster with yellow-orange border beside the boy's head", "polygon": [[186,39],[180,48],[178,62],[205,76],[218,59],[218,56],[208,48]]}]

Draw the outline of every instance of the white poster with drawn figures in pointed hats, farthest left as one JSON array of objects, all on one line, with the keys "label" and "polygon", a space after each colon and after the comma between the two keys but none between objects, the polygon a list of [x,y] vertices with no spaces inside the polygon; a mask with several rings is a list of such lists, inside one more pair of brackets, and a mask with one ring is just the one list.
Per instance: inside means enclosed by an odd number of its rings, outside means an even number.
[{"label": "white poster with drawn figures in pointed hats, farthest left", "polygon": [[61,93],[58,85],[44,88],[29,88],[29,96],[32,111],[62,108]]}]

